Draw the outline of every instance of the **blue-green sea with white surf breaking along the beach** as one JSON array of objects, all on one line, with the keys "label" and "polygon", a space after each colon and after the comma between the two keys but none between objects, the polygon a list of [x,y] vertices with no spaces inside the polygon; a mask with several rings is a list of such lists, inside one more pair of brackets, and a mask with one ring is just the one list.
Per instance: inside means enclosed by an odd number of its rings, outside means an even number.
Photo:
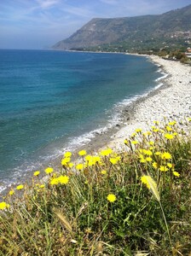
[{"label": "blue-green sea with white surf breaking along the beach", "polygon": [[164,75],[144,56],[0,49],[0,191],[85,148]]}]

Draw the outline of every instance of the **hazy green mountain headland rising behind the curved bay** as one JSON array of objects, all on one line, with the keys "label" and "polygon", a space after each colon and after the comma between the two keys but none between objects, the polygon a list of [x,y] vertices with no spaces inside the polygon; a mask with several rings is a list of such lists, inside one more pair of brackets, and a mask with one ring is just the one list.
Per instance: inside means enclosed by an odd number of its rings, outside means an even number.
[{"label": "hazy green mountain headland rising behind the curved bay", "polygon": [[125,49],[191,42],[191,4],[162,15],[113,19],[96,18],[61,40],[53,49],[96,49],[123,46]]}]

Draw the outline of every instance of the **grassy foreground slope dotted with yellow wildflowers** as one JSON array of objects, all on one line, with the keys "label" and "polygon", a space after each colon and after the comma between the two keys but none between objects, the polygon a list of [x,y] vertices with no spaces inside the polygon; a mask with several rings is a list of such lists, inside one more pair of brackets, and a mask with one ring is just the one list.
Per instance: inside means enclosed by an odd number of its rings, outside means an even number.
[{"label": "grassy foreground slope dotted with yellow wildflowers", "polygon": [[34,172],[0,202],[0,255],[191,255],[190,121]]}]

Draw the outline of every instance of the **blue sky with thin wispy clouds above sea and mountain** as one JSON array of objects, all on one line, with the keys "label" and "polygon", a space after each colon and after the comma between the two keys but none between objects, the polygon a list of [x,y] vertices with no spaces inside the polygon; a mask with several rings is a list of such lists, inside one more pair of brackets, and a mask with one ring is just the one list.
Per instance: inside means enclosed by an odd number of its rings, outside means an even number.
[{"label": "blue sky with thin wispy clouds above sea and mountain", "polygon": [[0,49],[43,49],[92,18],[157,15],[191,0],[0,0]]}]

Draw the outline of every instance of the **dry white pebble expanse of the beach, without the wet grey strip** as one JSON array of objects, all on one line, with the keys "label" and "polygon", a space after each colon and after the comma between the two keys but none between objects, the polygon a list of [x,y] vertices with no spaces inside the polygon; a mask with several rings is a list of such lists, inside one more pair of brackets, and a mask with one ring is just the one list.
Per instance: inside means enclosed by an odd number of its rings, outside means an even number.
[{"label": "dry white pebble expanse of the beach, without the wet grey strip", "polygon": [[191,67],[179,61],[169,61],[159,56],[148,56],[167,74],[163,85],[155,93],[136,103],[132,118],[113,135],[107,147],[123,149],[124,139],[136,128],[147,131],[153,120],[176,119],[181,121],[191,115]]}]

